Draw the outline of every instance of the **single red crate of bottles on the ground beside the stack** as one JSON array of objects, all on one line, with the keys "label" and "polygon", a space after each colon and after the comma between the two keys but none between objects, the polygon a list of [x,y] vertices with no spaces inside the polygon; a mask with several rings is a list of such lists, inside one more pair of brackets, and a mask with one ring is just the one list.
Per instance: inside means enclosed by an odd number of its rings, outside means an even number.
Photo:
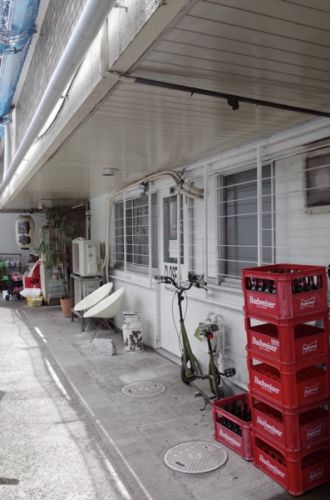
[{"label": "single red crate of bottles on the ground beside the stack", "polygon": [[[245,460],[253,460],[251,422],[230,413],[230,406],[243,404],[249,407],[247,393],[215,401],[212,405],[214,437],[220,443],[236,451]],[[229,428],[228,425],[231,427]],[[235,429],[237,432],[235,432]]]}]

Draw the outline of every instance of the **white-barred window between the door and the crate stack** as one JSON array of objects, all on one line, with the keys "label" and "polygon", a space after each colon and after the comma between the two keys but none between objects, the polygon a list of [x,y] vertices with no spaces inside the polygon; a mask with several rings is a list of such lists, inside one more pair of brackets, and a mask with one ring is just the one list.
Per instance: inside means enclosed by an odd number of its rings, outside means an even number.
[{"label": "white-barred window between the door and the crate stack", "polygon": [[[217,182],[218,283],[239,278],[241,269],[274,260],[272,166],[262,168],[261,193],[257,169],[219,175]],[[258,194],[262,200],[261,262],[258,263]]]}]

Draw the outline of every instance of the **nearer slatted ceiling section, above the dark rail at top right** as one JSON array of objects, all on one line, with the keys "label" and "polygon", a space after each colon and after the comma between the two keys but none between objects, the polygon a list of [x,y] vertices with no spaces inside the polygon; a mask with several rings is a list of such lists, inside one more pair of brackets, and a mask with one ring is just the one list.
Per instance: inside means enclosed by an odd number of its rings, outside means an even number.
[{"label": "nearer slatted ceiling section, above the dark rail at top right", "polygon": [[[312,5],[304,7],[304,4]],[[276,102],[330,104],[330,4],[199,1],[134,73]]]}]

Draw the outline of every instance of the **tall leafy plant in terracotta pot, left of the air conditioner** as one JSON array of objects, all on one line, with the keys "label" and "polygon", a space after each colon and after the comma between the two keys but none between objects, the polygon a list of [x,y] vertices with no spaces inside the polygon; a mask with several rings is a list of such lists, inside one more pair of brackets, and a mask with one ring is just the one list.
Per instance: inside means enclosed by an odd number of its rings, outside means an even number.
[{"label": "tall leafy plant in terracotta pot, left of the air conditioner", "polygon": [[48,208],[45,213],[47,225],[40,231],[37,249],[45,268],[46,280],[60,290],[60,304],[65,316],[71,315],[69,290],[71,242],[74,235],[65,207]]}]

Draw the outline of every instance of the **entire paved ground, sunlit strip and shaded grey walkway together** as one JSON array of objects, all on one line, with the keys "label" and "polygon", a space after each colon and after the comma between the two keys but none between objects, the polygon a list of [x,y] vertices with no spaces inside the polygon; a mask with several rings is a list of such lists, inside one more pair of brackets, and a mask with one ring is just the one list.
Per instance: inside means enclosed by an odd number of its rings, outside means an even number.
[{"label": "entire paved ground, sunlit strip and shaded grey walkway together", "polygon": [[[179,368],[170,361],[151,350],[124,352],[118,334],[111,335],[117,355],[100,355],[90,342],[91,332],[81,333],[79,322],[71,323],[59,308],[1,305],[2,415],[6,405],[10,406],[11,392],[15,393],[11,377],[16,380],[18,373],[23,385],[19,389],[22,397],[10,414],[13,419],[8,419],[5,435],[2,433],[0,455],[0,476],[17,479],[19,484],[0,483],[0,499],[292,498],[230,450],[223,467],[205,474],[174,472],[164,464],[165,452],[174,445],[213,441],[210,407],[201,411],[203,401],[194,397],[193,387],[182,384]],[[39,384],[32,390],[28,384],[31,376],[35,377],[33,384]],[[125,396],[122,387],[137,381],[159,382],[166,390],[151,398]],[[43,384],[50,391],[50,401],[44,397]],[[35,395],[34,390],[42,395]],[[34,421],[29,412],[36,403],[40,427],[45,432],[48,429],[54,439],[62,439],[60,432],[67,439],[69,451],[63,448],[62,460],[57,457],[54,464],[52,449],[47,439],[40,438],[38,425],[22,441],[26,457],[21,457],[22,450],[17,448],[23,433],[20,422],[28,415]],[[53,412],[59,412],[59,405],[61,413],[55,418]],[[24,425],[24,432],[27,430]],[[42,462],[40,473],[34,466],[34,455]],[[56,490],[59,483],[62,489]],[[330,485],[304,496],[306,500],[328,498]]]}]

